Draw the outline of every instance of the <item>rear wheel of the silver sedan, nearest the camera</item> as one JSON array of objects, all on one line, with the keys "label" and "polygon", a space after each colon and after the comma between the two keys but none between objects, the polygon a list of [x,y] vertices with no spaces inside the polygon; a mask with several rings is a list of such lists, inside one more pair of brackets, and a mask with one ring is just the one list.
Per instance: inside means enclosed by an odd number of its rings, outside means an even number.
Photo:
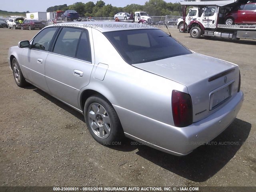
[{"label": "rear wheel of the silver sedan, nearest the camera", "polygon": [[120,141],[124,132],[113,106],[102,96],[88,98],[84,105],[84,118],[92,137],[102,145]]}]

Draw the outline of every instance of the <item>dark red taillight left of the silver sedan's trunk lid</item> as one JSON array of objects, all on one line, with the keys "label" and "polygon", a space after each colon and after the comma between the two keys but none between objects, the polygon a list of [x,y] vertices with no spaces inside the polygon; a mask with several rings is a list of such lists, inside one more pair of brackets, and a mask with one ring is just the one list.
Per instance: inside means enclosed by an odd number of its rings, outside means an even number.
[{"label": "dark red taillight left of the silver sedan's trunk lid", "polygon": [[174,126],[186,127],[193,122],[192,100],[189,94],[172,91],[172,117]]}]

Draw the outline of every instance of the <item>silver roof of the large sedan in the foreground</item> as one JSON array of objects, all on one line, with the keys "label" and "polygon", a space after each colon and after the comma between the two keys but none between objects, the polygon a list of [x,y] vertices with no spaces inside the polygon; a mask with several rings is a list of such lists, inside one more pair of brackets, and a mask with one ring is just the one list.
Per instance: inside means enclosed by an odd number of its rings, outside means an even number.
[{"label": "silver roof of the large sedan in the foreground", "polygon": [[[58,26],[58,24],[49,25],[50,26]],[[122,30],[134,30],[134,29],[158,29],[156,27],[139,24],[139,23],[131,23],[131,22],[114,22],[114,21],[96,21],[92,24],[92,22],[82,21],[82,22],[67,22],[61,23],[60,26],[75,26],[78,28],[95,28],[100,32],[110,32],[110,31],[122,31]]]}]

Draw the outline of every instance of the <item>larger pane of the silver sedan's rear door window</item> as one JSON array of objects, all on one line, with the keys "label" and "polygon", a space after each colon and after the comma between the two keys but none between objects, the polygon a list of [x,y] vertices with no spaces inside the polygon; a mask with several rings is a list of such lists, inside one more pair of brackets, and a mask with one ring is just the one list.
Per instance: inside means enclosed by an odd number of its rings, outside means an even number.
[{"label": "larger pane of the silver sedan's rear door window", "polygon": [[76,56],[76,48],[82,29],[62,28],[54,46],[54,53],[70,57]]}]

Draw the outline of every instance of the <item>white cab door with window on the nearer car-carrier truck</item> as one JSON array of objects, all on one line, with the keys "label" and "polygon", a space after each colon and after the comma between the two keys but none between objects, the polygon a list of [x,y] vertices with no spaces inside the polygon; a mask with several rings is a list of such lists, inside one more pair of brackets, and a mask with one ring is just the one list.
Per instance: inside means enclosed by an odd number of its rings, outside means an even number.
[{"label": "white cab door with window on the nearer car-carrier truck", "polygon": [[202,24],[205,28],[215,28],[217,18],[217,8],[216,6],[207,7],[204,11],[204,17],[202,19]]}]

